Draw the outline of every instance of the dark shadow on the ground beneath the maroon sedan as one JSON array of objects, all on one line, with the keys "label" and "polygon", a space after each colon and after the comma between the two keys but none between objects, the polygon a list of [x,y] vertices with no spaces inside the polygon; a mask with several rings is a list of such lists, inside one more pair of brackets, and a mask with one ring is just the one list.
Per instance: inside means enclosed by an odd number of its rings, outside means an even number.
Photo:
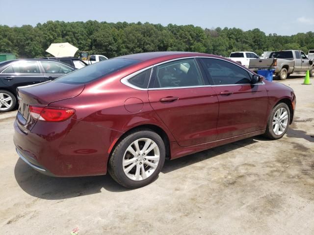
[{"label": "dark shadow on the ground beneath the maroon sedan", "polygon": [[[255,143],[253,138],[226,144],[200,153],[188,155],[172,161],[166,161],[162,173],[168,173],[220,154]],[[117,184],[108,174],[104,176],[57,178],[43,175],[30,168],[19,159],[14,169],[19,186],[29,195],[46,200],[60,200],[83,195],[100,193],[103,190],[122,192],[130,189]]]}]

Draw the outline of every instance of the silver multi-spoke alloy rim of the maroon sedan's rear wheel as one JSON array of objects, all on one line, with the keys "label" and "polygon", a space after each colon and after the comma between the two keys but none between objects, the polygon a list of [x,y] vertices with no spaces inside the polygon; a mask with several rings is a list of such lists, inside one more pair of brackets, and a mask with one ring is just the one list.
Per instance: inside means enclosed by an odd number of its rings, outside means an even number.
[{"label": "silver multi-spoke alloy rim of the maroon sedan's rear wheel", "polygon": [[122,160],[123,171],[131,180],[145,180],[154,173],[159,159],[157,143],[149,138],[141,138],[133,141],[125,151]]}]

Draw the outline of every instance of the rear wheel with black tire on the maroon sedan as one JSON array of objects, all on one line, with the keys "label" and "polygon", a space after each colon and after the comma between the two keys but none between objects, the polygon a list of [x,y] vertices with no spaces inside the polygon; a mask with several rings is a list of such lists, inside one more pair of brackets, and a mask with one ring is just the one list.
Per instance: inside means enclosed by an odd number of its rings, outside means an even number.
[{"label": "rear wheel with black tire on the maroon sedan", "polygon": [[132,132],[114,148],[108,166],[111,177],[125,188],[141,188],[152,183],[165,161],[161,137],[148,129]]}]

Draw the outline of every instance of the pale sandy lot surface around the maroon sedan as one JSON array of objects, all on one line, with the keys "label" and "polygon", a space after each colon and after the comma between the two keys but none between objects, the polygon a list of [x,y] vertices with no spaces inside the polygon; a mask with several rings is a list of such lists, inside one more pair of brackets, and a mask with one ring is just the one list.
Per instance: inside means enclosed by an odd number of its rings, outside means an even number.
[{"label": "pale sandy lot surface around the maroon sedan", "polygon": [[[51,178],[18,158],[16,111],[0,114],[1,235],[313,235],[314,79],[296,93],[288,134],[249,138],[166,161],[151,185],[109,176]],[[275,81],[278,82],[278,81]]]}]

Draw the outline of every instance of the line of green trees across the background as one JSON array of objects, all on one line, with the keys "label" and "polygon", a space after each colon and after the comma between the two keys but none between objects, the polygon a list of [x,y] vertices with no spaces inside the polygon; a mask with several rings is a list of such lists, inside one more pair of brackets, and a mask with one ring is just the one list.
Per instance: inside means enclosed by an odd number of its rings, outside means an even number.
[{"label": "line of green trees across the background", "polygon": [[196,51],[229,56],[232,51],[314,49],[314,32],[281,36],[260,29],[201,28],[194,25],[48,21],[36,26],[0,25],[0,52],[17,58],[51,56],[51,43],[68,42],[79,51],[107,57],[148,51]]}]

